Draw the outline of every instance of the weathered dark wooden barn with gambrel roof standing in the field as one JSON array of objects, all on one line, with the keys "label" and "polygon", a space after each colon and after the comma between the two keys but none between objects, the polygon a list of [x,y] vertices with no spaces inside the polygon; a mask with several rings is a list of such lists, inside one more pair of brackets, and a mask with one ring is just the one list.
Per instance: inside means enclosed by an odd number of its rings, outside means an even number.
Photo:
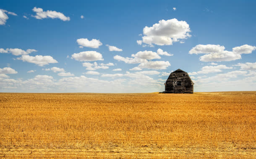
[{"label": "weathered dark wooden barn with gambrel roof standing in the field", "polygon": [[165,82],[165,93],[193,93],[194,83],[188,73],[180,69],[173,71]]}]

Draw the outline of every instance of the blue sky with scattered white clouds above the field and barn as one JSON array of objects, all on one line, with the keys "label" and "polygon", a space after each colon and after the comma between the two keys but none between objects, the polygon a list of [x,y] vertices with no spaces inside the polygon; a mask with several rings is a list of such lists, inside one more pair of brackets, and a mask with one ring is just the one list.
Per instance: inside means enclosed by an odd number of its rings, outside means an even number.
[{"label": "blue sky with scattered white clouds above the field and barn", "polygon": [[255,0],[8,0],[0,92],[256,91]]}]

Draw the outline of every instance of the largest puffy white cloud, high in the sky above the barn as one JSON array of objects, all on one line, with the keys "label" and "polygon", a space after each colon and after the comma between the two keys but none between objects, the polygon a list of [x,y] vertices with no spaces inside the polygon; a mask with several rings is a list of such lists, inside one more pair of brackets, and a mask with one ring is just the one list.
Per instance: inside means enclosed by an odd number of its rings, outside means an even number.
[{"label": "largest puffy white cloud, high in the sky above the barn", "polygon": [[187,22],[177,19],[159,20],[159,23],[152,27],[143,29],[143,43],[156,45],[172,45],[173,42],[191,37],[190,28]]}]

